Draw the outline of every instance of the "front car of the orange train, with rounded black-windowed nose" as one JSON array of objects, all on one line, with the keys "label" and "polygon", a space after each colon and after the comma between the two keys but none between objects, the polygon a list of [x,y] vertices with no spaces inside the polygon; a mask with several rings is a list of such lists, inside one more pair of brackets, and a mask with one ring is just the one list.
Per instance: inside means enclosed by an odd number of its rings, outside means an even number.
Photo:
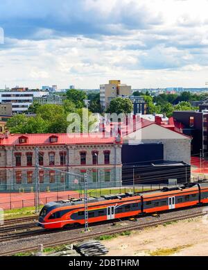
[{"label": "front car of the orange train, with rounded black-windowed nose", "polygon": [[[89,223],[136,216],[141,213],[139,194],[119,194],[88,198]],[[45,229],[71,228],[85,224],[83,199],[48,203],[42,208],[39,225]]]}]

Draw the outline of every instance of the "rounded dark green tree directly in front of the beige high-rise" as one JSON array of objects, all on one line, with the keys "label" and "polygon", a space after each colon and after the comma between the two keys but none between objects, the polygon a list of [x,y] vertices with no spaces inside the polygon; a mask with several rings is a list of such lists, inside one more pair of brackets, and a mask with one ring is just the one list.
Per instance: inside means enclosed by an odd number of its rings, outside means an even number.
[{"label": "rounded dark green tree directly in front of the beige high-rise", "polygon": [[117,97],[116,99],[112,99],[112,101],[110,101],[110,106],[107,109],[107,112],[115,112],[117,115],[119,115],[120,113],[128,115],[128,113],[131,113],[132,110],[133,104],[130,99],[123,99],[121,97]]}]

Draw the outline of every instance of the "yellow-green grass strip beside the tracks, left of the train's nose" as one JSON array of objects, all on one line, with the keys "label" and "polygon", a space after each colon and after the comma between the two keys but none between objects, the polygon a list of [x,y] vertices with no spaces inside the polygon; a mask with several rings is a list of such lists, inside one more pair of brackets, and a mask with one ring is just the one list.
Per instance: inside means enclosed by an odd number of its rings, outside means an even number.
[{"label": "yellow-green grass strip beside the tracks, left of the train's nose", "polygon": [[[40,206],[40,209],[42,206]],[[4,219],[15,219],[18,217],[30,217],[33,216],[35,212],[34,207],[28,207],[28,208],[17,208],[12,210],[5,210],[4,211]]]}]

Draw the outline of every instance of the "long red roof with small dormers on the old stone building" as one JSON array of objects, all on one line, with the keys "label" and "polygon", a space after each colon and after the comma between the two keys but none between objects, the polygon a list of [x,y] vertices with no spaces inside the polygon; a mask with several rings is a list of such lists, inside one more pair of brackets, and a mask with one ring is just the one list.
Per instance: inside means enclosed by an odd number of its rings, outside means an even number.
[{"label": "long red roof with small dormers on the old stone building", "polygon": [[[28,138],[26,143],[19,144],[19,138],[26,136]],[[11,134],[8,138],[0,138],[0,145],[45,145],[50,144],[49,138],[57,136],[58,142],[54,144],[113,144],[116,142],[114,137],[104,137],[103,133],[89,133],[89,134],[76,134],[76,133],[59,133],[59,134]],[[117,142],[118,144],[122,143]]]}]

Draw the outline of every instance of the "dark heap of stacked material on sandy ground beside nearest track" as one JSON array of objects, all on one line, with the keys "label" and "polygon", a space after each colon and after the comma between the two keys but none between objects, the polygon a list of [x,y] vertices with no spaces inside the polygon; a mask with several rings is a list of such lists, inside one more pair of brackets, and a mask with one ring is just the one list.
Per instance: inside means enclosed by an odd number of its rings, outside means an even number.
[{"label": "dark heap of stacked material on sandy ground beside nearest track", "polygon": [[101,256],[108,253],[107,248],[96,240],[82,242],[74,246],[74,248],[83,256]]}]

